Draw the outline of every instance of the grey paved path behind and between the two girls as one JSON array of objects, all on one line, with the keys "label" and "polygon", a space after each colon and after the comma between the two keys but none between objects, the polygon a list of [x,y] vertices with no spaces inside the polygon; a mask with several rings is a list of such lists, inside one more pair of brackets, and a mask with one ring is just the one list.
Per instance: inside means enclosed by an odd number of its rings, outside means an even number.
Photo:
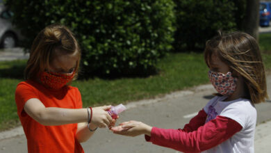
[{"label": "grey paved path behind and between the two girls", "polygon": [[[271,75],[268,75],[268,90],[271,95]],[[126,105],[129,109],[120,115],[117,123],[126,120],[140,120],[155,127],[183,128],[183,125],[208,102],[212,97],[210,95],[212,92],[215,92],[213,87],[206,85],[174,92],[158,99],[131,102]],[[260,124],[271,119],[271,102],[258,104],[256,109],[258,111],[258,126],[255,136],[255,152],[271,152],[268,147],[271,138],[271,122]],[[93,153],[176,153],[175,150],[146,143],[143,136],[128,138],[112,134],[108,129],[98,129],[96,134],[82,145],[85,152]],[[0,140],[0,152],[27,152],[25,136]]]}]

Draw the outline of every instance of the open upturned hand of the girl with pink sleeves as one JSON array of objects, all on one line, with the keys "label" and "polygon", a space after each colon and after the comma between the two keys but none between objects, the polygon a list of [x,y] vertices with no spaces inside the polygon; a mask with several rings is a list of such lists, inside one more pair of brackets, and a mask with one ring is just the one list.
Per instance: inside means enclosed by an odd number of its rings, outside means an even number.
[{"label": "open upturned hand of the girl with pink sleeves", "polygon": [[147,124],[131,120],[129,122],[122,122],[117,127],[112,127],[111,131],[113,131],[114,134],[123,136],[139,136],[141,134],[151,136],[151,129],[152,127]]}]

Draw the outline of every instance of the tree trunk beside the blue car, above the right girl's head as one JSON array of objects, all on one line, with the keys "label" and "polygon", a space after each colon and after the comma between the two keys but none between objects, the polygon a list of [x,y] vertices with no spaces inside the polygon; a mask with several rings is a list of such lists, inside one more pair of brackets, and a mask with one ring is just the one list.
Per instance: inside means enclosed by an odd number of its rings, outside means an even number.
[{"label": "tree trunk beside the blue car, above the right girl's head", "polygon": [[259,4],[260,0],[247,0],[243,30],[258,41]]}]

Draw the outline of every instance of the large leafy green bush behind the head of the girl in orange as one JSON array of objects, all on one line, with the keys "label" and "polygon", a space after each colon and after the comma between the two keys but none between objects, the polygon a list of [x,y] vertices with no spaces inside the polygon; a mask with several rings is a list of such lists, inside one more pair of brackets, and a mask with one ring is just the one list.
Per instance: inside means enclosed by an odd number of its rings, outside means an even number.
[{"label": "large leafy green bush behind the head of the girl in orange", "polygon": [[131,74],[155,67],[172,49],[171,0],[7,0],[29,48],[49,24],[68,26],[83,51],[83,72]]}]

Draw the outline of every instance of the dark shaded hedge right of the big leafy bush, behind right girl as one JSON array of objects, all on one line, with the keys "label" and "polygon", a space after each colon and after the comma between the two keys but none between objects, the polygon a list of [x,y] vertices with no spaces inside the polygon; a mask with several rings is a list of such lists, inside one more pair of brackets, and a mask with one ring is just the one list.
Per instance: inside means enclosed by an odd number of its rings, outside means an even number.
[{"label": "dark shaded hedge right of the big leafy bush, behind right girl", "polygon": [[[235,0],[174,0],[176,3],[176,32],[174,51],[203,49],[206,40],[217,30],[236,29]],[[238,0],[240,1],[240,0]]]}]

